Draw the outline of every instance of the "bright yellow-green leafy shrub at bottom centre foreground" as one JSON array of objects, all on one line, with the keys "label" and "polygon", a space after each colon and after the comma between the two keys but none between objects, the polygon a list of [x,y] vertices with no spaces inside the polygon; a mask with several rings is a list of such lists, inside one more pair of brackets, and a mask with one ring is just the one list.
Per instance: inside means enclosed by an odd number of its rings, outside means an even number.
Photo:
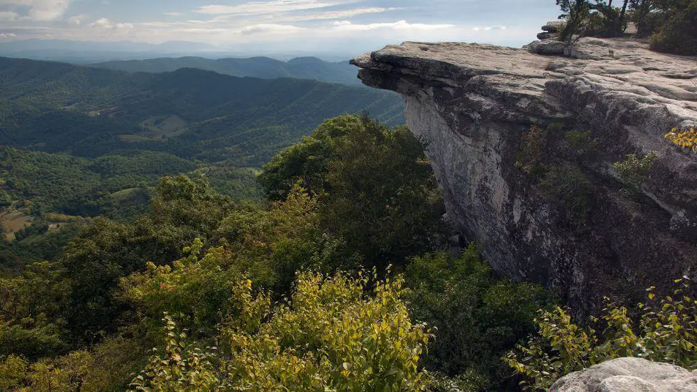
[{"label": "bright yellow-green leafy shrub at bottom centre foreground", "polygon": [[[403,281],[342,274],[298,275],[289,301],[270,312],[252,282],[233,294],[238,313],[220,328],[220,349],[182,342],[169,318],[162,355],[135,377],[138,390],[222,388],[264,391],[422,390],[418,361],[429,340],[401,301]],[[367,296],[371,287],[374,295]],[[267,317],[270,315],[270,317]]]}]

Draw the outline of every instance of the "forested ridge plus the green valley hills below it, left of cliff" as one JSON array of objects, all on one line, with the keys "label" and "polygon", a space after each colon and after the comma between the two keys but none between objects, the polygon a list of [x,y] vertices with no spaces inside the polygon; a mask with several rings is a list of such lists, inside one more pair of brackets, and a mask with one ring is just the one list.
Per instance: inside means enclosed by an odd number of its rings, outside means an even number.
[{"label": "forested ridge plus the green valley hills below it, left of cliff", "polygon": [[124,200],[176,173],[206,174],[247,198],[275,152],[325,118],[359,112],[404,122],[396,95],[341,84],[0,58],[0,186],[35,202],[33,213],[83,216],[123,212]]}]

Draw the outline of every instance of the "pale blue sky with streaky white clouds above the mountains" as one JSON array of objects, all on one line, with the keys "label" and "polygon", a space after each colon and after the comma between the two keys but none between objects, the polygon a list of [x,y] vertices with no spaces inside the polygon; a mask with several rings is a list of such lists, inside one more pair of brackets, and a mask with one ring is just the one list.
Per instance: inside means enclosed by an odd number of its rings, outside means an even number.
[{"label": "pale blue sky with streaky white clouds above the mountains", "polygon": [[0,0],[0,42],[206,42],[220,49],[360,52],[412,41],[519,47],[554,0]]}]

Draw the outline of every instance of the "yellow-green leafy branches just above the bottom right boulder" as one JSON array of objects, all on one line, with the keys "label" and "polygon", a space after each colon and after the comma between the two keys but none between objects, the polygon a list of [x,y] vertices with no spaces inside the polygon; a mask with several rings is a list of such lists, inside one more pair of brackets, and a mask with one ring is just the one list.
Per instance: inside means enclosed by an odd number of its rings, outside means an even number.
[{"label": "yellow-green leafy branches just above the bottom right boulder", "polygon": [[548,389],[556,379],[608,359],[638,356],[650,361],[697,368],[697,301],[689,297],[691,282],[675,281],[671,295],[648,289],[648,302],[639,304],[638,326],[627,308],[612,304],[604,310],[602,332],[579,327],[562,308],[540,311],[537,337],[510,352],[506,363],[527,378],[530,389]]}]

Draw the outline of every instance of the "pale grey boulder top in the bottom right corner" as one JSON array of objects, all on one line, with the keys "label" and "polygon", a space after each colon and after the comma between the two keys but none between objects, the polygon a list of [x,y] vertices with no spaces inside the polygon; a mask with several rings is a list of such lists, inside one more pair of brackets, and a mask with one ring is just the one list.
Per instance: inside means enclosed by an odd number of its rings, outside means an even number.
[{"label": "pale grey boulder top in the bottom right corner", "polygon": [[640,358],[620,358],[559,379],[560,392],[696,392],[697,371]]}]

